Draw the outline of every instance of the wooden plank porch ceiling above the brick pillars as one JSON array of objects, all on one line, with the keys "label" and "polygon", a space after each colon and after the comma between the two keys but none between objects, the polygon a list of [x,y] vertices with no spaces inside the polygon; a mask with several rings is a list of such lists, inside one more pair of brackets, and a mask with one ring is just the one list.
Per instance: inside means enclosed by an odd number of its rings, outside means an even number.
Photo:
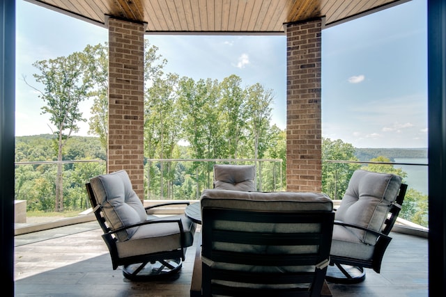
[{"label": "wooden plank porch ceiling above the brick pillars", "polygon": [[146,33],[284,33],[284,23],[325,17],[330,26],[402,0],[27,0],[105,26],[106,15]]}]

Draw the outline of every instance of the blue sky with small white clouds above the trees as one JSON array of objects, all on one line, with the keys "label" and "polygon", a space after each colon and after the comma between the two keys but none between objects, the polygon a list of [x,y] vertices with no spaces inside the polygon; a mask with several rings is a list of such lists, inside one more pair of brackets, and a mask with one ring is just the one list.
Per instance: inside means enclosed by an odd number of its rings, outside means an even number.
[{"label": "blue sky with small white clouds above the trees", "polygon": [[[16,135],[51,133],[32,63],[107,42],[107,29],[17,0]],[[427,147],[426,0],[323,30],[323,136],[355,147]],[[286,128],[286,38],[146,35],[167,72],[193,79],[231,74],[273,90],[272,122]],[[37,85],[38,86],[38,85]],[[89,117],[91,102],[82,112]],[[87,135],[88,124],[79,135]]]}]

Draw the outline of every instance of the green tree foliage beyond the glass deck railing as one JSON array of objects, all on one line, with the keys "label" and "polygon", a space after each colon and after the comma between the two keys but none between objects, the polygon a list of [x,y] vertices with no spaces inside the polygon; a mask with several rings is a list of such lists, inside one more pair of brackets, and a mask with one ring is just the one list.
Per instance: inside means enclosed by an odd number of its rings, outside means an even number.
[{"label": "green tree foliage beyond the glass deck railing", "polygon": [[[235,74],[222,81],[179,77],[164,72],[166,63],[157,54],[157,47],[145,40],[146,198],[198,199],[203,188],[212,187],[214,161],[183,162],[182,159],[279,159],[282,162],[256,163],[257,188],[259,191],[284,189],[286,131],[270,122],[272,90],[259,83],[243,86],[242,79]],[[45,86],[45,91],[40,93],[40,98],[47,103],[43,112],[51,114],[56,126],[54,135],[59,136],[58,154],[49,149],[51,136],[17,138],[16,161],[105,160],[108,137],[106,45],[87,46],[82,53],[38,61],[35,65],[41,72],[35,75],[36,80]],[[88,97],[93,97],[89,132],[98,138],[76,138],[77,145],[72,145],[70,136],[77,131],[77,122],[84,120],[79,113],[79,102]],[[406,177],[406,172],[385,164],[390,162],[387,156],[374,156],[370,161],[376,163],[361,167],[354,163],[358,161],[357,152],[350,143],[322,139],[322,188],[330,198],[343,197],[351,175],[358,168]],[[372,153],[362,150],[362,156]],[[63,184],[59,173],[55,173],[62,167],[68,179]],[[88,204],[84,183],[104,171],[104,163],[60,164],[57,170],[48,164],[18,166],[16,199],[28,200],[29,209],[43,210],[54,203],[52,197],[61,193],[68,198],[56,202],[56,209],[83,209]],[[62,186],[58,188],[57,184]],[[425,195],[410,189],[402,216],[425,224],[426,204]]]}]

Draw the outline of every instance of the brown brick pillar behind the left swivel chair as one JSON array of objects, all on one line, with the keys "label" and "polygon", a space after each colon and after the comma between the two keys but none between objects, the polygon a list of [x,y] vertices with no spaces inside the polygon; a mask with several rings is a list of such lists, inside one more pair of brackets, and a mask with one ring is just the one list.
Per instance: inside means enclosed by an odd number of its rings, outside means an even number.
[{"label": "brown brick pillar behind the left swivel chair", "polygon": [[107,172],[126,170],[144,200],[144,24],[108,19]]}]

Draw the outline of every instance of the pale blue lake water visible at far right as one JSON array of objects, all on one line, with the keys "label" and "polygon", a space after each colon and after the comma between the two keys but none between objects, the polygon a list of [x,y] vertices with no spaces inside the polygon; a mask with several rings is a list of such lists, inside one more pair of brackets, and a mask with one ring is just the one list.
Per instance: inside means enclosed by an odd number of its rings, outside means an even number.
[{"label": "pale blue lake water visible at far right", "polygon": [[[415,163],[427,164],[427,158],[394,158],[395,163]],[[417,191],[427,195],[428,193],[428,166],[413,165],[394,165],[394,168],[401,168],[407,173],[404,182],[408,188],[414,188]]]}]

